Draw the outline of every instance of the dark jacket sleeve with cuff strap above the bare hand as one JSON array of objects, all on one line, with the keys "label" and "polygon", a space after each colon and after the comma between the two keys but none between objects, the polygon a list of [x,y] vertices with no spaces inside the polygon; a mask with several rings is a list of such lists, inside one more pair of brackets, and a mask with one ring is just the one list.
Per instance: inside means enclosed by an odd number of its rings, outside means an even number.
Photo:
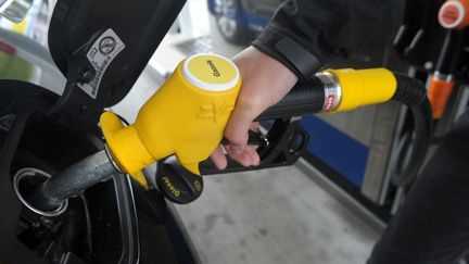
[{"label": "dark jacket sleeve with cuff strap above the bare hand", "polygon": [[363,47],[380,22],[383,0],[287,0],[253,46],[300,77]]}]

